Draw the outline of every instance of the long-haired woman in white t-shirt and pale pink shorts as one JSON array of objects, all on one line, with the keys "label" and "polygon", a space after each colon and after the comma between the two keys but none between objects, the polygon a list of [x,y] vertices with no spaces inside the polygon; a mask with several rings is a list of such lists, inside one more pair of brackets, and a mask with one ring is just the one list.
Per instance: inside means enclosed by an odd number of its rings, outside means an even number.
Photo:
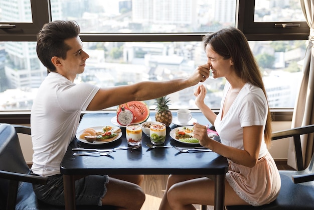
[{"label": "long-haired woman in white t-shirt and pale pink shorts", "polygon": [[[206,88],[195,90],[195,103],[215,126],[221,143],[207,135],[206,126],[195,124],[200,144],[226,157],[226,205],[263,205],[273,201],[280,176],[267,147],[271,141],[271,116],[262,76],[243,33],[222,29],[203,39],[207,64],[214,78],[225,77],[221,110],[216,115],[204,103]],[[195,209],[214,205],[214,180],[204,175],[170,175],[160,209]]]}]

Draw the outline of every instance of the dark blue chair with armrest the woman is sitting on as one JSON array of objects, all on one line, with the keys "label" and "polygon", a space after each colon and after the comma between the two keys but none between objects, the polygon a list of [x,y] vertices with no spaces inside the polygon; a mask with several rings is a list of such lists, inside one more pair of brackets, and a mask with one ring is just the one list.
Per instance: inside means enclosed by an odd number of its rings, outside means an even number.
[{"label": "dark blue chair with armrest the woman is sitting on", "polygon": [[314,154],[303,169],[300,135],[314,133],[314,125],[274,132],[272,140],[293,137],[297,170],[280,170],[281,189],[273,202],[262,206],[233,205],[226,210],[313,210],[314,209]]}]

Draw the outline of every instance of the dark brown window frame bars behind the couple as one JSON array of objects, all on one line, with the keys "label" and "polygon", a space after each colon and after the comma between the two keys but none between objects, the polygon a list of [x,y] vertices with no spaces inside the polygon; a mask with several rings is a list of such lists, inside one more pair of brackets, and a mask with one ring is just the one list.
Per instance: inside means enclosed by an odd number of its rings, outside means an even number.
[{"label": "dark brown window frame bars behind the couple", "polygon": [[[210,1],[210,0],[208,0]],[[263,40],[307,40],[309,27],[306,22],[300,28],[275,28],[274,23],[254,23],[255,1],[238,0],[235,27],[240,29],[248,41]],[[52,20],[50,0],[31,0],[33,23],[2,23],[14,24],[14,29],[0,29],[0,41],[36,41],[36,35],[45,23]],[[287,22],[280,22],[284,24]],[[0,23],[1,24],[1,23]],[[108,34],[82,33],[83,42],[180,42],[202,41],[205,33],[149,33],[149,34]],[[219,109],[213,109],[215,113]],[[293,108],[271,109],[274,121],[291,121]],[[84,112],[82,113],[82,115]],[[29,124],[30,111],[1,111],[0,122],[11,124]]]}]

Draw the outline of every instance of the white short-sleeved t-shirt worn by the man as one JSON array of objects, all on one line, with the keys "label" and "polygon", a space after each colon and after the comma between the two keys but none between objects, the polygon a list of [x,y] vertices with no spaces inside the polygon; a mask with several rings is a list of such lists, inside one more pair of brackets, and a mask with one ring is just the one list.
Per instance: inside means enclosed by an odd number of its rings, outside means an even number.
[{"label": "white short-sleeved t-shirt worn by the man", "polygon": [[60,163],[75,137],[81,111],[87,109],[98,90],[88,83],[74,84],[56,72],[48,74],[31,111],[35,174],[60,174]]}]

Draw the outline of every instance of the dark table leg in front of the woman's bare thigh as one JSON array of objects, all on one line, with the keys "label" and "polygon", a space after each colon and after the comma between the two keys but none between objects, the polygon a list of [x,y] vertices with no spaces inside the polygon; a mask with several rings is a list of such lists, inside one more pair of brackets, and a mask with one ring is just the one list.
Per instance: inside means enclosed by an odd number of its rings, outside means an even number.
[{"label": "dark table leg in front of the woman's bare thigh", "polygon": [[223,210],[225,208],[225,178],[226,174],[215,175],[215,210]]}]

